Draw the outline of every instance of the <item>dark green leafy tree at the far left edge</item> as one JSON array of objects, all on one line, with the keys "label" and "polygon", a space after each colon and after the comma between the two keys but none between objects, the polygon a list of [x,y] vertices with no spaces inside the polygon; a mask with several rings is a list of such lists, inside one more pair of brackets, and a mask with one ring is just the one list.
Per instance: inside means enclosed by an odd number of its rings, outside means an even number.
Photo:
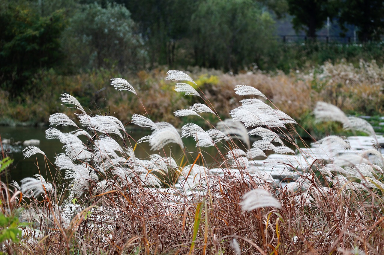
[{"label": "dark green leafy tree at the far left edge", "polygon": [[32,78],[39,70],[60,64],[60,35],[65,28],[63,11],[40,16],[22,2],[1,3],[0,83],[12,97],[38,93]]}]

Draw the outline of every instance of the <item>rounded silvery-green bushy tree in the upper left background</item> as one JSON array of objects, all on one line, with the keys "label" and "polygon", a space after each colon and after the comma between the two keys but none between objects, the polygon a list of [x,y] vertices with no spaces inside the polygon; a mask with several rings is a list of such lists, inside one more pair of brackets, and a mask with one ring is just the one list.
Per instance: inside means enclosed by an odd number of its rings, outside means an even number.
[{"label": "rounded silvery-green bushy tree in the upper left background", "polygon": [[65,47],[73,71],[118,67],[140,69],[146,53],[135,23],[124,5],[83,5],[65,31]]}]

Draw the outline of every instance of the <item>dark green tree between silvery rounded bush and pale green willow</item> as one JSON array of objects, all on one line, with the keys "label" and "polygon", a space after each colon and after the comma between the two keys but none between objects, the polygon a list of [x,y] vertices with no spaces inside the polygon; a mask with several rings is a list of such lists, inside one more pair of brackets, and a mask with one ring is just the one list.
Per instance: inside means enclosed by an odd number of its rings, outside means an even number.
[{"label": "dark green tree between silvery rounded bush and pale green willow", "polygon": [[190,34],[195,0],[117,0],[132,13],[139,25],[151,64],[174,64],[178,44]]}]

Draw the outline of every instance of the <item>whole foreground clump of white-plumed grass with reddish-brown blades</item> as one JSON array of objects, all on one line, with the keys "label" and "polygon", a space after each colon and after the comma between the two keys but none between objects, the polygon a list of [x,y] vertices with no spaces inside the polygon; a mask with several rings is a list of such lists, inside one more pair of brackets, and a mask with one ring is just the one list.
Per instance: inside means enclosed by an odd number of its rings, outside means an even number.
[{"label": "whole foreground clump of white-plumed grass with reddish-brown blades", "polygon": [[[168,72],[167,79],[193,82],[180,71]],[[138,94],[126,80],[113,79],[111,85]],[[50,127],[46,131],[48,139],[63,143],[65,152],[56,156],[54,164],[46,158],[44,163],[58,170],[56,179],[63,177],[66,182],[49,183],[36,175],[23,179],[21,185],[13,182],[16,191],[3,189],[3,214],[19,214],[29,222],[21,227],[20,242],[8,240],[3,250],[20,254],[384,252],[381,153],[371,148],[358,154],[346,139],[336,136],[324,138],[313,149],[298,147],[292,133],[295,121],[267,105],[266,96],[254,87],[235,87],[237,96],[247,98],[230,111],[230,120],[220,119],[214,102],[199,87],[177,83],[176,90],[204,102],[180,109],[176,116],[205,119],[210,114],[217,118],[217,128],[208,123],[212,128],[205,131],[189,123],[180,136],[169,123],[134,114],[133,124],[152,130],[134,141],[119,119],[88,115],[76,98],[63,94],[62,103],[75,109],[77,119],[57,113],[50,123],[74,130],[63,133]],[[321,109],[317,113],[326,118]],[[356,129],[357,123],[346,118],[343,124]],[[182,137],[196,141],[195,152],[185,149]],[[250,137],[256,138],[252,144]],[[238,148],[237,138],[247,149]],[[149,142],[157,154],[137,158],[135,149],[142,142]],[[169,144],[195,159],[162,157],[162,151],[172,149]],[[215,164],[207,165],[202,152],[210,146],[217,148],[217,156]],[[267,156],[271,151],[274,154]],[[36,153],[45,155],[34,146],[24,151],[28,157]],[[347,160],[348,155],[354,162]]]}]

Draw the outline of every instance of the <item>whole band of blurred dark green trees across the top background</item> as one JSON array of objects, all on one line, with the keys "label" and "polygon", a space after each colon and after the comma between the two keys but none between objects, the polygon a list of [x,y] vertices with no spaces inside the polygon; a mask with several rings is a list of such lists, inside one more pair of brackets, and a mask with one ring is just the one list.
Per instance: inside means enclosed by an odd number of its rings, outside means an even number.
[{"label": "whole band of blurred dark green trees across the top background", "polygon": [[293,15],[295,28],[313,38],[329,16],[369,41],[384,32],[383,9],[379,0],[0,0],[0,88],[36,96],[48,69],[273,70],[286,58],[272,12]]}]

